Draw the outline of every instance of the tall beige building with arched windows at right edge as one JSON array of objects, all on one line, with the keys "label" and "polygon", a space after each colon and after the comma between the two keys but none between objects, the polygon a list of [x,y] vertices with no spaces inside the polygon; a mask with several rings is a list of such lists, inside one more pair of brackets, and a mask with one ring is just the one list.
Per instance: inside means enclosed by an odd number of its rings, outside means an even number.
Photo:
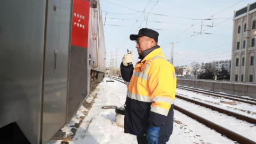
[{"label": "tall beige building with arched windows at right edge", "polygon": [[234,12],[230,81],[255,82],[256,3]]}]

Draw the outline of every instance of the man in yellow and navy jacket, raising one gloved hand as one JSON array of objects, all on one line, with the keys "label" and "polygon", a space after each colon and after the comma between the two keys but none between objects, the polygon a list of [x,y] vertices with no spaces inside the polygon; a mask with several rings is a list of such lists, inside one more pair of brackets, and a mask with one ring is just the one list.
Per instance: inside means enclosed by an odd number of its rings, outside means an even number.
[{"label": "man in yellow and navy jacket, raising one gloved hand", "polygon": [[157,45],[158,33],[142,28],[136,41],[139,62],[132,65],[132,51],[124,54],[121,75],[128,91],[125,102],[124,132],[137,135],[139,144],[164,144],[173,131],[176,91],[174,67]]}]

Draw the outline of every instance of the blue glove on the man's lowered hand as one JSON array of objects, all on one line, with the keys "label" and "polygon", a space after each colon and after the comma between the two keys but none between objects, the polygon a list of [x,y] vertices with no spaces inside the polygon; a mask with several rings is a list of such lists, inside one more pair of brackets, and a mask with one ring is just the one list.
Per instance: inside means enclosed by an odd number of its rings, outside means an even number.
[{"label": "blue glove on the man's lowered hand", "polygon": [[147,140],[148,144],[158,144],[158,134],[160,127],[148,127]]}]

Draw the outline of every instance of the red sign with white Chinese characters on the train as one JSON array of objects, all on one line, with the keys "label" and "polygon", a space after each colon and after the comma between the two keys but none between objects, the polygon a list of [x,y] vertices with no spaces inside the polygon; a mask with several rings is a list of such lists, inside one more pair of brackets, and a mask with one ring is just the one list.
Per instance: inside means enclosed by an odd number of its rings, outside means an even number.
[{"label": "red sign with white Chinese characters on the train", "polygon": [[90,1],[74,0],[71,45],[87,48]]}]

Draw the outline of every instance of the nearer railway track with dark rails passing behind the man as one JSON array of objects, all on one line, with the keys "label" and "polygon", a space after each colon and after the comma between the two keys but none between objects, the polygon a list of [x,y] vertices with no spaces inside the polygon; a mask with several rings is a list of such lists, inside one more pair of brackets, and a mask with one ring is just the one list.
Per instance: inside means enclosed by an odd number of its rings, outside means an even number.
[{"label": "nearer railway track with dark rails passing behind the man", "polygon": [[[112,78],[112,77],[109,77],[109,78]],[[124,83],[123,80],[119,79],[119,78],[112,78],[116,81],[119,81],[121,83]],[[192,103],[195,103],[196,105],[200,105],[200,106],[203,106],[203,107],[206,107],[206,108],[210,108],[212,110],[215,110],[215,111],[218,111],[219,113],[223,113],[223,114],[226,114],[228,116],[233,116],[233,117],[236,117],[237,119],[241,119],[243,121],[246,121],[246,122],[249,122],[249,123],[253,123],[253,124],[256,124],[256,119],[254,118],[251,118],[251,117],[247,117],[247,116],[244,116],[244,115],[241,115],[241,114],[237,114],[237,113],[233,113],[232,111],[229,111],[229,110],[225,110],[225,109],[222,109],[222,108],[218,108],[218,107],[214,107],[214,106],[211,106],[211,105],[207,105],[206,103],[203,103],[203,102],[199,102],[199,101],[196,101],[196,100],[192,100],[192,99],[188,99],[188,98],[185,98],[179,94],[176,94],[176,97],[179,98],[179,99],[183,99],[183,100],[186,100],[186,101],[189,101],[189,102],[192,102]],[[256,104],[256,103],[255,103]],[[175,110],[178,110],[180,111],[181,113],[195,119],[196,121],[198,121],[199,123],[202,123],[204,125],[206,125],[207,127],[210,127],[211,129],[223,134],[223,135],[226,135],[227,138],[231,139],[231,140],[234,140],[234,141],[237,141],[238,143],[246,143],[246,144],[256,144],[255,141],[252,141],[248,138],[245,138],[243,137],[243,135],[240,135],[240,134],[237,134],[236,132],[234,131],[230,131],[228,129],[226,129],[225,127],[222,127],[218,124],[215,124],[201,116],[198,116],[194,113],[191,113],[189,112],[188,110],[185,110],[181,107],[178,107],[178,106],[174,106],[174,109]]]}]

